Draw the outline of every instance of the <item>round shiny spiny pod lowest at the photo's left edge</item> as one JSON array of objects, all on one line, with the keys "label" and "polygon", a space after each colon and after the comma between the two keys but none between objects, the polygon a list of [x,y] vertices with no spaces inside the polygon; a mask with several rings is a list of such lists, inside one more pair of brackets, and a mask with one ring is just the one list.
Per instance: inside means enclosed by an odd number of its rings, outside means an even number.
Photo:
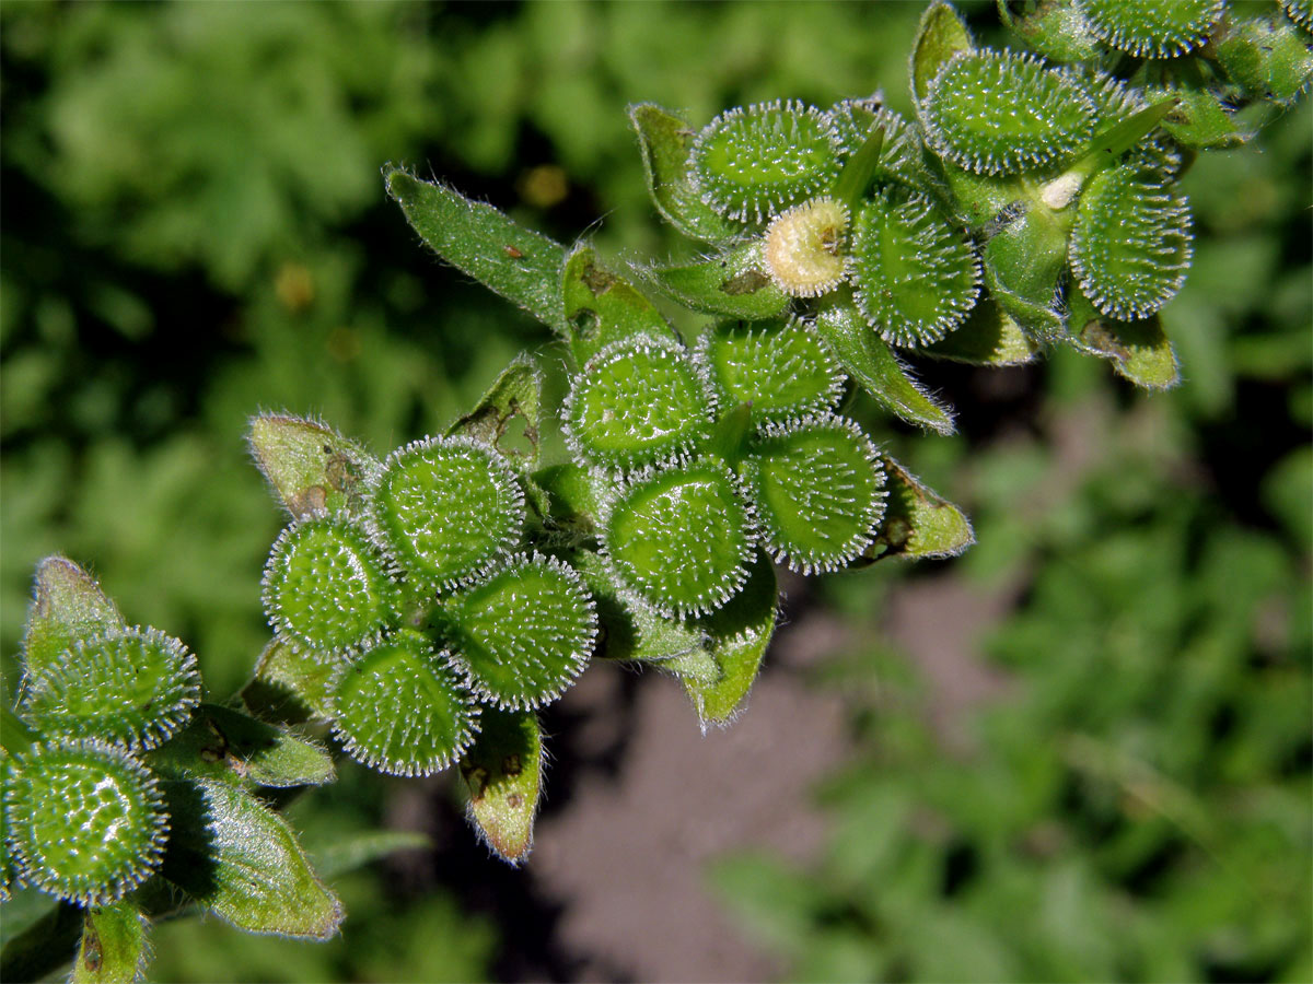
[{"label": "round shiny spiny pod lowest at the photo's left edge", "polygon": [[168,816],[155,777],[100,741],[35,745],[4,799],[20,878],[80,905],[122,897],[159,867]]}]

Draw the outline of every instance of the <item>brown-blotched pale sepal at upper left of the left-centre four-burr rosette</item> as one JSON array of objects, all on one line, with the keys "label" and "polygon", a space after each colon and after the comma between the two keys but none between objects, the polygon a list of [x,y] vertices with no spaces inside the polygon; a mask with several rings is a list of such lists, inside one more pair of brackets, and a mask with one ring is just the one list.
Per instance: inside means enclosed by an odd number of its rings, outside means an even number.
[{"label": "brown-blotched pale sepal at upper left of the left-centre four-burr rosette", "polygon": [[293,518],[316,513],[357,516],[366,476],[378,459],[330,426],[286,413],[251,417],[251,454]]}]

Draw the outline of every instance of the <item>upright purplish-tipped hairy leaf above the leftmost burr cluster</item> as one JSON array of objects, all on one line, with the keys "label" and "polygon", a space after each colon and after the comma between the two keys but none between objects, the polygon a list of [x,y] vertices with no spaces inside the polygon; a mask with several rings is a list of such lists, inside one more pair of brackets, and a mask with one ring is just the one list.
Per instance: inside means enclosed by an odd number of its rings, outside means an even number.
[{"label": "upright purplish-tipped hairy leaf above the leftmost burr cluster", "polygon": [[22,636],[22,659],[30,674],[56,665],[81,639],[123,627],[123,617],[89,573],[67,558],[47,556],[37,564],[35,589]]}]

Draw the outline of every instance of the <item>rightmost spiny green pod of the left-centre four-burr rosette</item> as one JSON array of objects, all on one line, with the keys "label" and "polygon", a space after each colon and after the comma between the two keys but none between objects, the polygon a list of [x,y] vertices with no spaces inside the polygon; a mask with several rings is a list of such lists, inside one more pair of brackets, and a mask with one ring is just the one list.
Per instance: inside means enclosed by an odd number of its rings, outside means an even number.
[{"label": "rightmost spiny green pod of the left-centre four-burr rosette", "polygon": [[452,663],[481,701],[502,710],[561,697],[597,636],[592,594],[555,558],[521,558],[442,607]]}]

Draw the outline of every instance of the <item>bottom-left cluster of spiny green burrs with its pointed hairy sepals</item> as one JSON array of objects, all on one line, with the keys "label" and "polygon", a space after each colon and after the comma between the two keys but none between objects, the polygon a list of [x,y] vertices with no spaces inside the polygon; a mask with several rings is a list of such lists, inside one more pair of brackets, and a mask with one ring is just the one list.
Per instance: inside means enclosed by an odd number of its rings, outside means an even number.
[{"label": "bottom-left cluster of spiny green burrs with its pointed hairy sepals", "polygon": [[30,886],[84,907],[84,955],[113,939],[119,972],[139,974],[148,917],[183,897],[253,932],[332,934],[337,900],[251,791],[330,781],[323,749],[201,703],[186,647],[127,626],[60,556],[37,568],[22,670],[0,708],[3,897]]}]

